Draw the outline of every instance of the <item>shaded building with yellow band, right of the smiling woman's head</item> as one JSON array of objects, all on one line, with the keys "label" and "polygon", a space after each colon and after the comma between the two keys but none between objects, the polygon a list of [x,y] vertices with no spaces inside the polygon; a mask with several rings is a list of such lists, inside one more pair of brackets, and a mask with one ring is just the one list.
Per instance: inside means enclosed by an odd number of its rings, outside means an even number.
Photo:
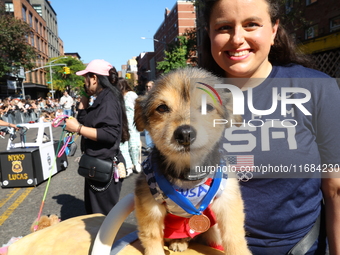
[{"label": "shaded building with yellow band, right of the smiling woman's head", "polygon": [[315,68],[340,78],[340,4],[338,0],[287,0],[286,27]]}]

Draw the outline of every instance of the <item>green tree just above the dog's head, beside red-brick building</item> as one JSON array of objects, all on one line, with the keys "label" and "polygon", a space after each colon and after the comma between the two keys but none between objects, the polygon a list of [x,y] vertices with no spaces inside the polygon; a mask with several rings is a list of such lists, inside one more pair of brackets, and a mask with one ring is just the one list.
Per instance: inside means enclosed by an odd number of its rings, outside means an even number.
[{"label": "green tree just above the dog's head, beside red-brick building", "polygon": [[175,43],[167,45],[168,50],[164,51],[164,60],[157,63],[157,69],[168,73],[173,69],[190,65],[188,61],[190,52],[190,40],[186,36],[178,36]]}]

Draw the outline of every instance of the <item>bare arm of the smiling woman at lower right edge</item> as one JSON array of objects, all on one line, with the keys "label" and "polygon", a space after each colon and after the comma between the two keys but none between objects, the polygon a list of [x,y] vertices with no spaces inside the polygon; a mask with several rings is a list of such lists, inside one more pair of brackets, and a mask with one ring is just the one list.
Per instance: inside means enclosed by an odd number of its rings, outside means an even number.
[{"label": "bare arm of the smiling woman at lower right edge", "polygon": [[322,192],[326,208],[329,254],[340,255],[340,178],[322,179]]}]

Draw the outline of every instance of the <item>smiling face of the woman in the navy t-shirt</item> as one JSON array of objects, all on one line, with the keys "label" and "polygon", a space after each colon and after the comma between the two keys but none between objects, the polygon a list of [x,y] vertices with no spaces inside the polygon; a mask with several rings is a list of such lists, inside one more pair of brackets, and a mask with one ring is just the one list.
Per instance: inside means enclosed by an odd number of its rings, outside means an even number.
[{"label": "smiling face of the woman in the navy t-shirt", "polygon": [[208,27],[212,56],[227,77],[265,78],[277,27],[265,0],[221,0]]}]

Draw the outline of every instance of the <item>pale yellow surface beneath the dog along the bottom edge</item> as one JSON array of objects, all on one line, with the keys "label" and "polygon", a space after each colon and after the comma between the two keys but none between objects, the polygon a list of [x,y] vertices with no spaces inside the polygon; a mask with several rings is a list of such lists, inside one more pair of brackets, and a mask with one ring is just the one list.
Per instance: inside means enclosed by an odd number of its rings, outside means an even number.
[{"label": "pale yellow surface beneath the dog along the bottom edge", "polygon": [[[88,255],[94,238],[105,216],[84,215],[62,221],[54,226],[29,234],[9,246],[8,255]],[[116,239],[136,230],[136,226],[123,223]],[[223,252],[191,243],[185,252],[173,252],[164,247],[166,255],[222,255]],[[199,251],[198,251],[199,250]],[[143,255],[139,240],[126,246],[118,255]]]}]

